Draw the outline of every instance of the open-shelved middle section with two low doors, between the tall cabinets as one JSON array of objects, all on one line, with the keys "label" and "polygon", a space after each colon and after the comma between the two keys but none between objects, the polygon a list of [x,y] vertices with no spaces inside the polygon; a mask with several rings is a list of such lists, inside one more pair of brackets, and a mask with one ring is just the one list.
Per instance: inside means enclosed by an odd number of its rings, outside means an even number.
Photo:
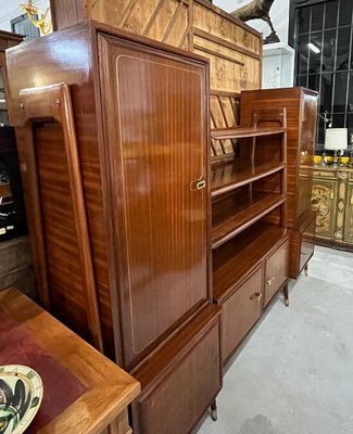
[{"label": "open-shelved middle section with two low doors, between the tall cabinets", "polygon": [[212,165],[213,284],[223,308],[224,363],[260,318],[264,295],[267,304],[287,291],[286,131],[285,108],[254,108],[251,127],[211,133],[238,140],[237,156]]}]

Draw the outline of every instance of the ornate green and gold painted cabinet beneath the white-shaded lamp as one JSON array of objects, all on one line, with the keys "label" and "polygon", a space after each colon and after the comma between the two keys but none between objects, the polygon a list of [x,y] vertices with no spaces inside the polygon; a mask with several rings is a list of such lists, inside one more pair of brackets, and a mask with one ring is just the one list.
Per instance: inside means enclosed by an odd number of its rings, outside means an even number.
[{"label": "ornate green and gold painted cabinet beneath the white-shaded lamp", "polygon": [[316,166],[312,205],[316,212],[315,243],[353,250],[353,169]]}]

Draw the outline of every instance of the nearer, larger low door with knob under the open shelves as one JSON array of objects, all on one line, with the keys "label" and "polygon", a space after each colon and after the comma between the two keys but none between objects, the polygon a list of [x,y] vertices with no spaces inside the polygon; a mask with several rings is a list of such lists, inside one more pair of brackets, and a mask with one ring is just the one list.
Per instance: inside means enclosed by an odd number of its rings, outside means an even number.
[{"label": "nearer, larger low door with knob under the open shelves", "polygon": [[225,362],[262,312],[262,268],[255,271],[223,304],[222,339]]}]

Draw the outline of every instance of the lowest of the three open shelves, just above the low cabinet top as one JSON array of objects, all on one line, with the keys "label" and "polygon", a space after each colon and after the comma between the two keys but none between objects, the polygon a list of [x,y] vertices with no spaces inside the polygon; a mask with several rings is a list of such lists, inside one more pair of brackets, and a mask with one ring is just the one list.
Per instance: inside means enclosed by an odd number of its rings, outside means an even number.
[{"label": "lowest of the three open shelves, just above the low cabinet top", "polygon": [[212,248],[217,248],[286,202],[286,195],[245,191],[213,205]]}]

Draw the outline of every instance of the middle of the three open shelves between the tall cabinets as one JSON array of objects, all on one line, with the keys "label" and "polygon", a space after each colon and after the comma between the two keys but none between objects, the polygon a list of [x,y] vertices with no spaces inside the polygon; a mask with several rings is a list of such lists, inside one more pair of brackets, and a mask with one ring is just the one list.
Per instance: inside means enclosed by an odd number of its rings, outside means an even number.
[{"label": "middle of the three open shelves between the tall cabinets", "polygon": [[211,194],[215,197],[282,170],[285,167],[283,163],[273,162],[254,166],[244,159],[214,164],[211,175]]}]

